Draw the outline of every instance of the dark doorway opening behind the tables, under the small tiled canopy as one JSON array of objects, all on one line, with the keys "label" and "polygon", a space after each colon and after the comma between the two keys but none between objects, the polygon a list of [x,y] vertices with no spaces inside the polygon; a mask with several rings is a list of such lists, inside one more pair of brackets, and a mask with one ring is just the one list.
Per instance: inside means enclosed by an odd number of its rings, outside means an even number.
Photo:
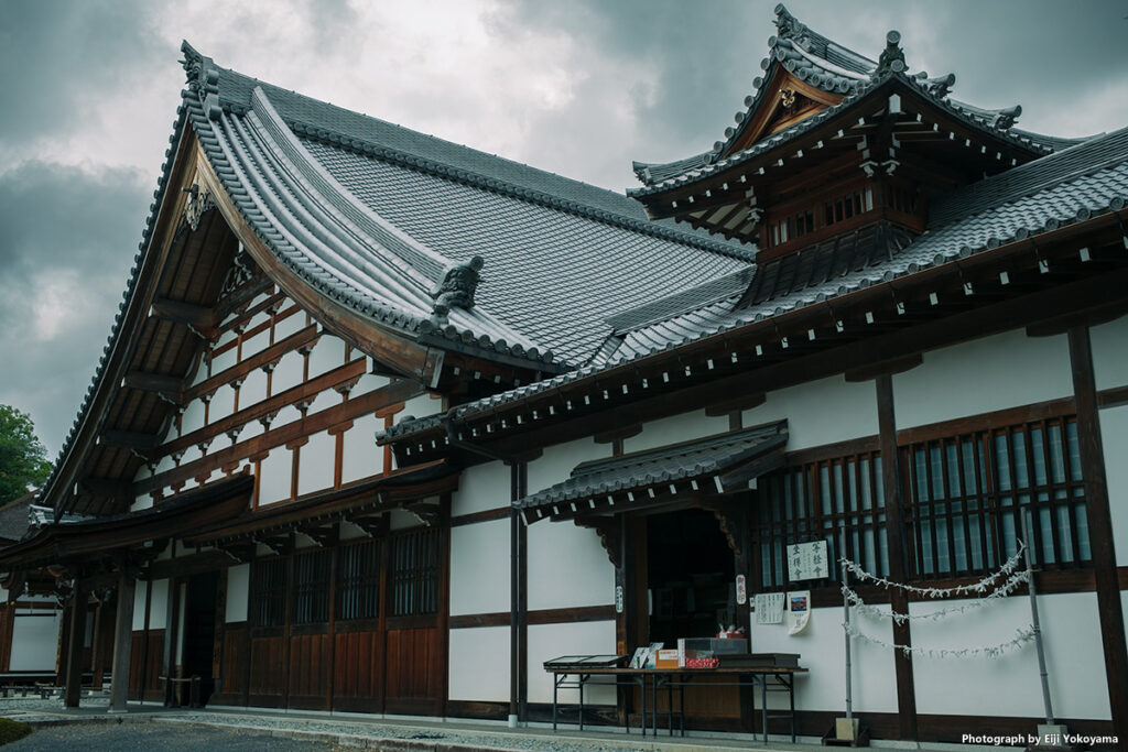
[{"label": "dark doorway opening behind the tables, under the small tiled canopy", "polygon": [[681,510],[646,519],[650,642],[712,637],[737,621],[735,561],[716,517]]}]

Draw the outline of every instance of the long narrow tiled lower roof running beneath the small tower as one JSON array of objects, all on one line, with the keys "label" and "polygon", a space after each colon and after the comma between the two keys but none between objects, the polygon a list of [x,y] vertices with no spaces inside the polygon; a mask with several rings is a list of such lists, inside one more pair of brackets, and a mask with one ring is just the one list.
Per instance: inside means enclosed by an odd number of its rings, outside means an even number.
[{"label": "long narrow tiled lower roof running beneath the small tower", "polygon": [[[680,295],[687,304],[680,311],[677,299],[669,301],[661,320],[624,320],[614,346],[588,365],[532,384],[467,402],[448,412],[457,419],[478,416],[506,404],[594,377],[623,363],[661,351],[732,331],[740,327],[832,301],[852,292],[905,278],[923,269],[951,264],[960,258],[996,248],[1004,242],[1036,238],[1060,227],[1121,211],[1128,205],[1128,129],[1098,136],[1084,144],[1042,157],[1020,168],[967,186],[948,196],[937,209],[950,212],[952,221],[931,227],[927,232],[888,257],[860,257],[858,265],[841,268],[812,284],[790,287],[785,294],[738,307],[744,289],[732,287],[716,299],[702,292]],[[756,274],[763,273],[757,267]],[[754,276],[752,283],[756,284]],[[704,290],[704,287],[703,287]],[[722,291],[723,292],[723,291]],[[654,301],[660,310],[663,301]],[[626,319],[626,317],[624,317]],[[638,325],[642,322],[641,325]],[[628,327],[633,327],[629,328]],[[428,430],[443,416],[400,423],[382,434],[390,439]]]}]

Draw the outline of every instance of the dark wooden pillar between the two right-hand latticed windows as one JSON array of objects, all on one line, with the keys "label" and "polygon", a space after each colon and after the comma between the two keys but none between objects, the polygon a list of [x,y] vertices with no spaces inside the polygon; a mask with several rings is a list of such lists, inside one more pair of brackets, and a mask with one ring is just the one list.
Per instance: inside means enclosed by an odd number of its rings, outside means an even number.
[{"label": "dark wooden pillar between the two right-hand latticed windows", "polygon": [[[893,582],[908,580],[908,559],[905,547],[905,520],[901,516],[904,498],[901,493],[900,453],[897,451],[897,416],[893,413],[893,378],[883,374],[876,378],[878,432],[881,444],[881,485],[885,498],[885,540],[889,545],[889,576]],[[845,551],[844,551],[845,555]],[[908,595],[904,590],[890,590],[890,605],[893,613],[908,613]],[[893,644],[911,645],[909,622],[893,622]],[[913,655],[893,652],[897,675],[897,716],[900,737],[917,737],[916,685],[913,679]]]}]

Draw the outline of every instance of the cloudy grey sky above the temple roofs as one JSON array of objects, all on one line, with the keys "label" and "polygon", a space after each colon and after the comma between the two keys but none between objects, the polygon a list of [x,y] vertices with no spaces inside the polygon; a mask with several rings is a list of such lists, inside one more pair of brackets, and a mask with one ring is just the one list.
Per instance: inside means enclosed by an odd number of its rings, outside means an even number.
[{"label": "cloudy grey sky above the temple roofs", "polygon": [[[708,148],[751,90],[775,0],[0,0],[0,402],[53,457],[106,340],[168,145],[182,38],[220,65],[614,189]],[[871,57],[1023,106],[1020,126],[1128,125],[1125,0],[790,0]]]}]

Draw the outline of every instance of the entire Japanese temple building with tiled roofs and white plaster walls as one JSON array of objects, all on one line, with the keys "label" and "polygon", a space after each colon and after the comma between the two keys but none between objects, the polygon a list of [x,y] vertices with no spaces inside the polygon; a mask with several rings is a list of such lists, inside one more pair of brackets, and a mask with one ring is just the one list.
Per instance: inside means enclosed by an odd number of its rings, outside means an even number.
[{"label": "entire Japanese temple building with tiled roofs and white plaster walls", "polygon": [[[735,123],[627,195],[185,43],[109,342],[0,549],[10,598],[68,599],[68,702],[111,671],[116,707],[199,675],[212,706],[538,722],[543,662],[723,623],[800,655],[817,737],[846,557],[919,589],[853,583],[874,738],[1034,733],[1026,585],[952,590],[1023,539],[1057,718],[1128,738],[1128,130],[1030,133],[896,32],[873,60],[776,25]],[[829,572],[793,582],[809,541]],[[799,634],[751,608],[800,590]],[[686,714],[761,723],[725,687]]]}]

